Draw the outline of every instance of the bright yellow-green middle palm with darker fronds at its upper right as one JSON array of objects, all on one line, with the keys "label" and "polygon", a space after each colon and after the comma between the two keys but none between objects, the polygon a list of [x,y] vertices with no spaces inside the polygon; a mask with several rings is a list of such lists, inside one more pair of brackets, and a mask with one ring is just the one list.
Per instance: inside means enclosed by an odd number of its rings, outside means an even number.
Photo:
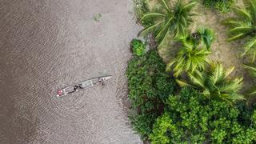
[{"label": "bright yellow-green middle palm with darker fronds at its upper right", "polygon": [[173,70],[175,77],[180,76],[182,72],[203,70],[208,63],[207,56],[210,54],[210,45],[214,38],[213,31],[200,28],[196,33],[186,34],[180,38],[182,47],[176,58],[172,58],[167,64],[166,70]]}]

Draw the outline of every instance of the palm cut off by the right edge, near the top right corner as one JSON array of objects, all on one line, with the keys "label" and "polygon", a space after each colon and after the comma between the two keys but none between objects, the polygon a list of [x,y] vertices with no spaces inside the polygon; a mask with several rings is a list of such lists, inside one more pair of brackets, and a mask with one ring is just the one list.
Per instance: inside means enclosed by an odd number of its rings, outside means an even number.
[{"label": "palm cut off by the right edge, near the top right corner", "polygon": [[230,26],[228,41],[234,41],[241,38],[249,38],[244,46],[245,54],[252,54],[252,61],[256,57],[256,1],[244,0],[245,7],[235,7],[235,18],[228,18],[224,22]]}]

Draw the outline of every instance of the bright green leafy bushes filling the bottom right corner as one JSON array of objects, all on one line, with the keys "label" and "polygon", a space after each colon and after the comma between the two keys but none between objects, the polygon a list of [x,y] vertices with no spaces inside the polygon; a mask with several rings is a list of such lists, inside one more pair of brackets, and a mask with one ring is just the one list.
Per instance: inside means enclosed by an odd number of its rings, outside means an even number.
[{"label": "bright green leafy bushes filling the bottom right corner", "polygon": [[255,143],[256,110],[210,100],[183,88],[166,101],[165,113],[154,123],[152,143]]}]

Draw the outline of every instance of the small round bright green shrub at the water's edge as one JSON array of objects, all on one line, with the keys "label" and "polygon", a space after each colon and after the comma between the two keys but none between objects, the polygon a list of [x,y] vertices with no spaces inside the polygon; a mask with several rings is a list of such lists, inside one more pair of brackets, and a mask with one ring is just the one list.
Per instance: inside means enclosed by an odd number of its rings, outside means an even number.
[{"label": "small round bright green shrub at the water's edge", "polygon": [[130,42],[131,49],[133,50],[133,53],[137,56],[142,56],[145,54],[146,46],[145,44],[139,40],[139,39],[133,39]]}]

